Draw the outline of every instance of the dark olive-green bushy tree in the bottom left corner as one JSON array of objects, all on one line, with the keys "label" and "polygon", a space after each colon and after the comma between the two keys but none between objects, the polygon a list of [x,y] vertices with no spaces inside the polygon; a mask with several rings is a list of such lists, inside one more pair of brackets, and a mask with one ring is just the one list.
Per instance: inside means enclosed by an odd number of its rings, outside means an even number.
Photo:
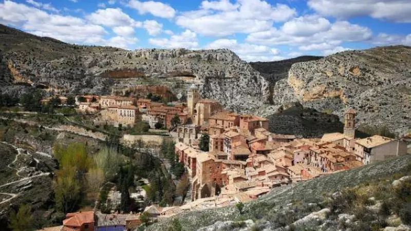
[{"label": "dark olive-green bushy tree in the bottom left corner", "polygon": [[26,231],[32,229],[33,216],[31,214],[31,208],[22,204],[18,209],[17,214],[15,211],[10,213],[9,227],[13,231]]}]

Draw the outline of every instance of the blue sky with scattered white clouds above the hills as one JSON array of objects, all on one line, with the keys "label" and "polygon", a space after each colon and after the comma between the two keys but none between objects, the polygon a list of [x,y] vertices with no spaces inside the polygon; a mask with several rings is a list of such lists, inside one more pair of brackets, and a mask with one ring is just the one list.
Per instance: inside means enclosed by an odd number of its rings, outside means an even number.
[{"label": "blue sky with scattered white clouds above the hills", "polygon": [[0,23],[72,44],[228,48],[248,62],[411,46],[411,0],[7,0]]}]

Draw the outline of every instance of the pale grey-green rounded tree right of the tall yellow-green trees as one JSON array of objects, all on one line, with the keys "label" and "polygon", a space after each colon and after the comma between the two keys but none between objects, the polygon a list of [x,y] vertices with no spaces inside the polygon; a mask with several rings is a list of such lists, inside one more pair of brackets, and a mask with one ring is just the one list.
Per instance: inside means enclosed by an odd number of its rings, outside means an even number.
[{"label": "pale grey-green rounded tree right of the tall yellow-green trees", "polygon": [[120,169],[120,155],[113,147],[105,146],[94,158],[96,166],[102,170],[105,181],[113,179]]}]

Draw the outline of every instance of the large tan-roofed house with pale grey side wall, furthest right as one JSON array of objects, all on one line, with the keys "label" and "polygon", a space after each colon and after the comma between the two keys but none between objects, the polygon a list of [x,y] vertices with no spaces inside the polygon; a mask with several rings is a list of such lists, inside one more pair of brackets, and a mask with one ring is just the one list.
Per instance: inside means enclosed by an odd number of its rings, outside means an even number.
[{"label": "large tan-roofed house with pale grey side wall, furthest right", "polygon": [[382,136],[372,136],[358,139],[355,143],[355,153],[359,161],[370,164],[390,157],[406,155],[405,142]]}]

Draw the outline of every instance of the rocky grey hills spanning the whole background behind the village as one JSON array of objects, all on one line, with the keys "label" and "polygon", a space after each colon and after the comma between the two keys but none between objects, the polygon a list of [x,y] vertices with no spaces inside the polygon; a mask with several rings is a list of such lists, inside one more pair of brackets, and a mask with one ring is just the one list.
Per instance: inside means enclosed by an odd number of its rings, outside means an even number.
[{"label": "rocky grey hills spanning the whole background behind the village", "polygon": [[[197,84],[201,97],[236,112],[270,117],[299,104],[343,121],[352,107],[358,126],[387,126],[397,136],[411,127],[411,48],[405,46],[246,63],[227,49],[126,51],[66,44],[0,25],[0,50],[1,91],[20,94],[36,87],[108,94],[135,85],[166,85],[177,94]],[[271,124],[287,124],[271,118]],[[323,132],[327,128],[308,133]]]}]

